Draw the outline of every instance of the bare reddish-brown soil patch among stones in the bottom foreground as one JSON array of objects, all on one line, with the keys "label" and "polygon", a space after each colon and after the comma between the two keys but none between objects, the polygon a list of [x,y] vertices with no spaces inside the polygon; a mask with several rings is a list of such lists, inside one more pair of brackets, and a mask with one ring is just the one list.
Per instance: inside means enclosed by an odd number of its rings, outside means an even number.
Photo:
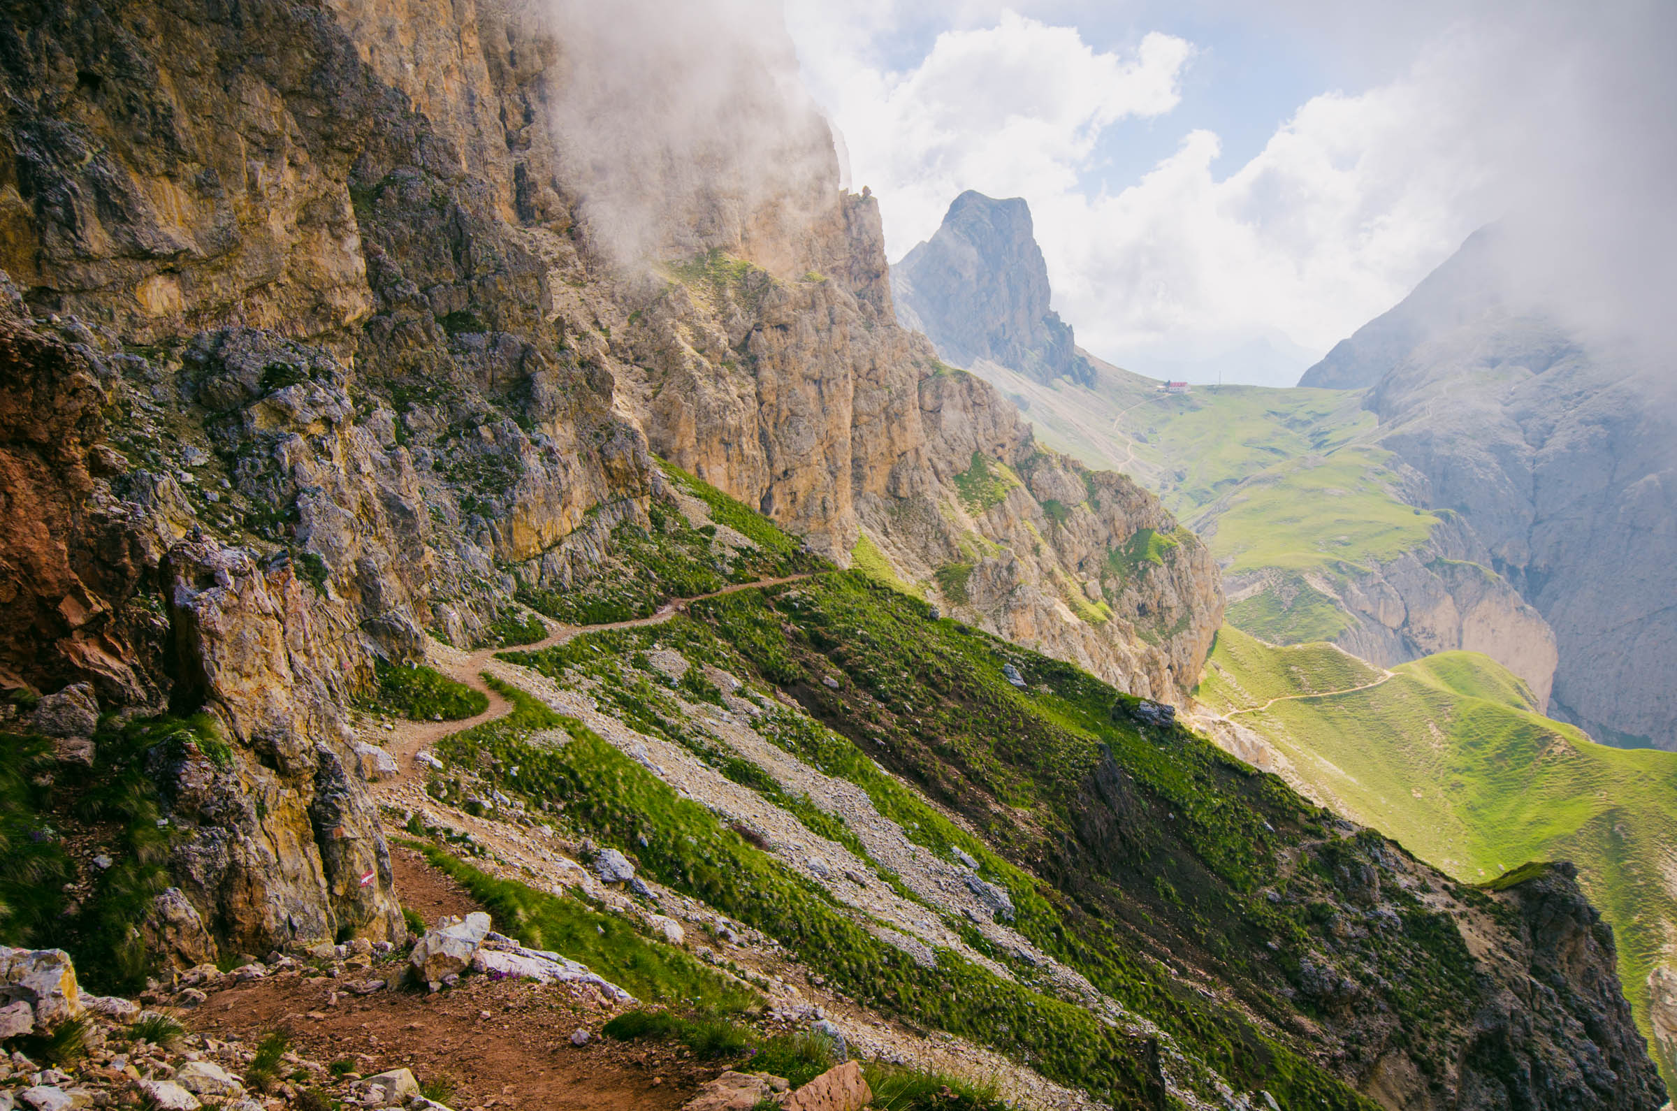
[{"label": "bare reddish-brown soil patch among stones in the bottom foreground", "polygon": [[[391,962],[372,975],[394,980],[399,972]],[[408,1067],[421,1084],[448,1077],[456,1086],[449,1106],[461,1109],[671,1111],[719,1071],[684,1051],[602,1039],[610,1012],[563,987],[468,977],[434,995],[334,995],[342,985],[297,975],[243,983],[213,994],[183,1022],[245,1042],[285,1030],[300,1056],[352,1057],[362,1076]],[[590,1032],[587,1046],[570,1044],[577,1029]]]}]

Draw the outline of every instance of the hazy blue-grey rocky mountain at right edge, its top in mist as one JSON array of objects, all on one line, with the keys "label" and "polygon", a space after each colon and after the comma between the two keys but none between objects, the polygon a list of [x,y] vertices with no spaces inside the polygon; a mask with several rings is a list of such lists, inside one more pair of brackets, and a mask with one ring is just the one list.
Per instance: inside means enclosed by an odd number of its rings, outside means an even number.
[{"label": "hazy blue-grey rocky mountain at right edge, its top in mist", "polygon": [[[1378,371],[1380,443],[1457,512],[1486,562],[1555,631],[1553,713],[1602,740],[1677,745],[1677,398],[1645,356],[1586,344],[1496,297],[1496,237],[1345,341]],[[1446,294],[1459,292],[1459,297]]]}]

